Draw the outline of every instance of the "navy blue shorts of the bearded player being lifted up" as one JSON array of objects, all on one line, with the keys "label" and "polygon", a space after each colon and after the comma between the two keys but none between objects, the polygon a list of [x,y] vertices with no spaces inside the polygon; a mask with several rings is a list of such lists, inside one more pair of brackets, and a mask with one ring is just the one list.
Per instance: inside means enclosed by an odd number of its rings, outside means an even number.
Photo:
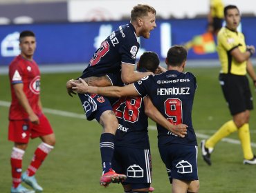
[{"label": "navy blue shorts of the bearded player being lifted up", "polygon": [[91,121],[96,119],[100,122],[100,116],[106,110],[113,110],[109,100],[98,94],[78,94],[84,109],[86,119]]}]

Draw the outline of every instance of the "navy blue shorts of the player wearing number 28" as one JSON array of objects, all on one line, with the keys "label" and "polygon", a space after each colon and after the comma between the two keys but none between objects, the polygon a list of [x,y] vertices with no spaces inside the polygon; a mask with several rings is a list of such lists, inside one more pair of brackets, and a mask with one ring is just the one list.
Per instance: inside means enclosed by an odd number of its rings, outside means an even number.
[{"label": "navy blue shorts of the player wearing number 28", "polygon": [[122,184],[130,184],[132,189],[150,187],[152,182],[150,150],[115,145],[112,167],[117,173],[126,174],[127,179]]}]

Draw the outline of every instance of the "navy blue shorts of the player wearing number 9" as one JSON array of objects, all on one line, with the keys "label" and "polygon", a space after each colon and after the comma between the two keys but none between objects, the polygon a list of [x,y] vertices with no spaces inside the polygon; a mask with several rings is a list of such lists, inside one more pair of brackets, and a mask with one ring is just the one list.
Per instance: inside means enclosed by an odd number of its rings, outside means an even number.
[{"label": "navy blue shorts of the player wearing number 9", "polygon": [[198,180],[197,146],[173,143],[158,147],[158,149],[165,163],[170,183],[172,179]]}]

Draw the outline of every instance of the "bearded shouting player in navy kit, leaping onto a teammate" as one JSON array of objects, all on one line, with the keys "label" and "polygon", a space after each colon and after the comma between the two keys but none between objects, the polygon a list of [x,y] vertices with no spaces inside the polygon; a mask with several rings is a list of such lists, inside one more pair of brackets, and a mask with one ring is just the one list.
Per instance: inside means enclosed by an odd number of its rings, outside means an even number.
[{"label": "bearded shouting player in navy kit, leaping onto a teammate", "polygon": [[[131,10],[129,24],[119,26],[107,39],[102,41],[95,51],[89,65],[82,73],[81,78],[101,77],[107,73],[121,73],[123,83],[138,81],[152,72],[134,72],[136,54],[140,47],[138,37],[149,38],[150,31],[156,28],[156,10],[151,6],[138,4]],[[120,72],[121,70],[121,72]],[[67,83],[68,94],[72,94],[70,81]],[[123,174],[116,174],[111,169],[114,137],[118,128],[118,121],[113,113],[108,99],[98,94],[79,94],[82,107],[88,120],[96,119],[103,127],[100,137],[100,152],[102,157],[103,174],[101,185],[118,182],[125,179]]]}]

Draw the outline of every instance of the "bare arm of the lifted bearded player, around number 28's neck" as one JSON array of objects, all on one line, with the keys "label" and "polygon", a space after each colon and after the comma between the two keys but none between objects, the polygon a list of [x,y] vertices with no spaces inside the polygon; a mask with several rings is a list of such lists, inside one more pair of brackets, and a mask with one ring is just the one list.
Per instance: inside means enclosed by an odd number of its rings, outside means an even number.
[{"label": "bare arm of the lifted bearded player, around number 28's neck", "polygon": [[134,65],[122,63],[121,79],[123,83],[134,83],[143,77],[153,74],[153,72],[135,72]]}]

